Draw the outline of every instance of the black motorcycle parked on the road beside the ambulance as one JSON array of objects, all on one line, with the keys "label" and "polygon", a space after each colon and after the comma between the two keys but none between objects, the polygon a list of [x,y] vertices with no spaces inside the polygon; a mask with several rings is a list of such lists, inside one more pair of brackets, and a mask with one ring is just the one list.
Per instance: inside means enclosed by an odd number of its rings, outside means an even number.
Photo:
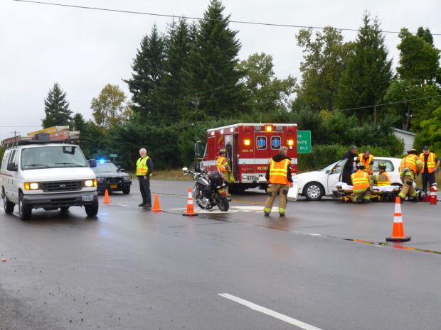
[{"label": "black motorcycle parked on the road beside the ambulance", "polygon": [[217,171],[213,172],[193,172],[186,167],[182,169],[184,175],[191,175],[194,181],[193,199],[201,209],[212,209],[215,205],[221,211],[228,211],[228,203],[225,188],[221,175]]}]

